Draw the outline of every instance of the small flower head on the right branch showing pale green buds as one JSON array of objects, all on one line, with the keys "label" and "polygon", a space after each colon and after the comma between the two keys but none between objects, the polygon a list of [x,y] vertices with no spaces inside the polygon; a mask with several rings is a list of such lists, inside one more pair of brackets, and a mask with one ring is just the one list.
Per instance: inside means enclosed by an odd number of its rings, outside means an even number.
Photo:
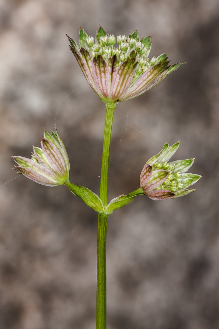
[{"label": "small flower head on the right branch showing pale green buds", "polygon": [[[178,198],[195,191],[187,187],[195,184],[200,175],[186,173],[194,159],[168,162],[177,151],[180,142],[169,146],[164,144],[162,150],[150,158],[142,169],[140,187],[152,200]],[[186,190],[187,189],[187,190]]]}]

